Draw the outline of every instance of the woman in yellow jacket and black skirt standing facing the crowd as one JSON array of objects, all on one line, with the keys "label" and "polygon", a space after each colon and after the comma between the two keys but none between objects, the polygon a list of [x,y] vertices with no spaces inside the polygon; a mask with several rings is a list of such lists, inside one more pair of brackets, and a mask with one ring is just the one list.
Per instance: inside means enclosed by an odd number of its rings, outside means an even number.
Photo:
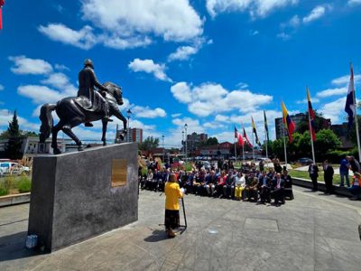
[{"label": "woman in yellow jacket and black skirt standing facing the crowd", "polygon": [[169,181],[165,183],[165,215],[164,225],[169,238],[175,237],[173,229],[180,227],[180,202],[183,197],[180,185],[176,182],[175,175],[171,173]]}]

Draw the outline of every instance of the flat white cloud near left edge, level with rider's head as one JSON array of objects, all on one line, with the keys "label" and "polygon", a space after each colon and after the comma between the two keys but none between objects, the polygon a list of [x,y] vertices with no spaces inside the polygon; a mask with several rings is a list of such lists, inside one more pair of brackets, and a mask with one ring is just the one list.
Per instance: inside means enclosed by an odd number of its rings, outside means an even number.
[{"label": "flat white cloud near left edge, level with rider's head", "polygon": [[52,71],[51,64],[39,59],[29,59],[23,55],[10,56],[9,61],[14,62],[11,70],[16,74],[48,74]]}]

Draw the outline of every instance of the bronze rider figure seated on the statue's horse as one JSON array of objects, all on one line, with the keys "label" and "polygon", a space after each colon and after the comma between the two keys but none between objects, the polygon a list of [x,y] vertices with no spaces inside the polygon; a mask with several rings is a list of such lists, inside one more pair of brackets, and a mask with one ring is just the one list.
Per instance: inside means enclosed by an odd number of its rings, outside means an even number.
[{"label": "bronze rider figure seated on the statue's horse", "polygon": [[[97,76],[94,72],[93,61],[87,59],[84,61],[84,68],[79,72],[79,90],[78,97],[83,96],[88,98],[90,105],[89,109],[93,107],[94,103],[96,103],[96,99],[100,99],[100,103],[102,105],[101,109],[104,112],[103,120],[104,121],[113,121],[109,118],[109,107],[106,103],[106,100],[100,96],[96,95],[94,87],[99,89],[99,92],[102,94],[103,91],[107,91],[106,87],[100,84],[97,80]],[[85,123],[85,126],[91,127],[93,126],[90,122]]]}]

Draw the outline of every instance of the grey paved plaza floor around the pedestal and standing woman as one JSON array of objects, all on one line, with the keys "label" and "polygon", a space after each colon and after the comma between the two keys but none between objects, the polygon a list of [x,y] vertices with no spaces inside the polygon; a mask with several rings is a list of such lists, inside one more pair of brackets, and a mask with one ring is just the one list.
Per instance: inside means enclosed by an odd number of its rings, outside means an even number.
[{"label": "grey paved plaza floor around the pedestal and standing woman", "polygon": [[137,222],[51,254],[24,248],[29,204],[1,208],[0,270],[360,270],[361,202],[293,190],[279,208],[186,195],[170,239],[164,194],[141,191]]}]

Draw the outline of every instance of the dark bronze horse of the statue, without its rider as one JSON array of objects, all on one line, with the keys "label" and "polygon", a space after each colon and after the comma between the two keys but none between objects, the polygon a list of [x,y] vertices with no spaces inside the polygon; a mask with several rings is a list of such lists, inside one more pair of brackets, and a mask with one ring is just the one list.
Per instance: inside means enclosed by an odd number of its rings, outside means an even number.
[{"label": "dark bronze horse of the statue, without its rider", "polygon": [[[121,121],[123,121],[123,133],[121,134],[122,139],[126,134],[126,119],[120,112],[118,105],[123,105],[122,90],[116,84],[111,82],[106,82],[104,84],[107,91],[102,92],[104,99],[106,100],[107,106],[109,108],[109,117],[115,116]],[[94,91],[94,96],[100,96],[101,94],[97,91]],[[71,131],[75,126],[80,124],[93,122],[101,120],[104,117],[104,110],[102,107],[104,105],[104,99],[97,98],[97,102],[91,106],[88,98],[85,97],[68,97],[63,98],[58,101],[56,104],[45,104],[41,108],[40,120],[42,121],[42,126],[40,127],[40,143],[44,143],[47,138],[52,134],[51,147],[54,154],[61,154],[58,147],[57,136],[59,131],[63,131],[64,134],[69,135],[69,137],[75,141],[78,145],[78,150],[82,151],[82,144],[77,135]],[[91,106],[91,108],[89,108]],[[56,126],[53,126],[53,120],[51,112],[54,111],[60,118],[59,123]],[[103,145],[106,145],[106,126],[107,121],[102,120],[103,124],[103,134],[101,140]]]}]

